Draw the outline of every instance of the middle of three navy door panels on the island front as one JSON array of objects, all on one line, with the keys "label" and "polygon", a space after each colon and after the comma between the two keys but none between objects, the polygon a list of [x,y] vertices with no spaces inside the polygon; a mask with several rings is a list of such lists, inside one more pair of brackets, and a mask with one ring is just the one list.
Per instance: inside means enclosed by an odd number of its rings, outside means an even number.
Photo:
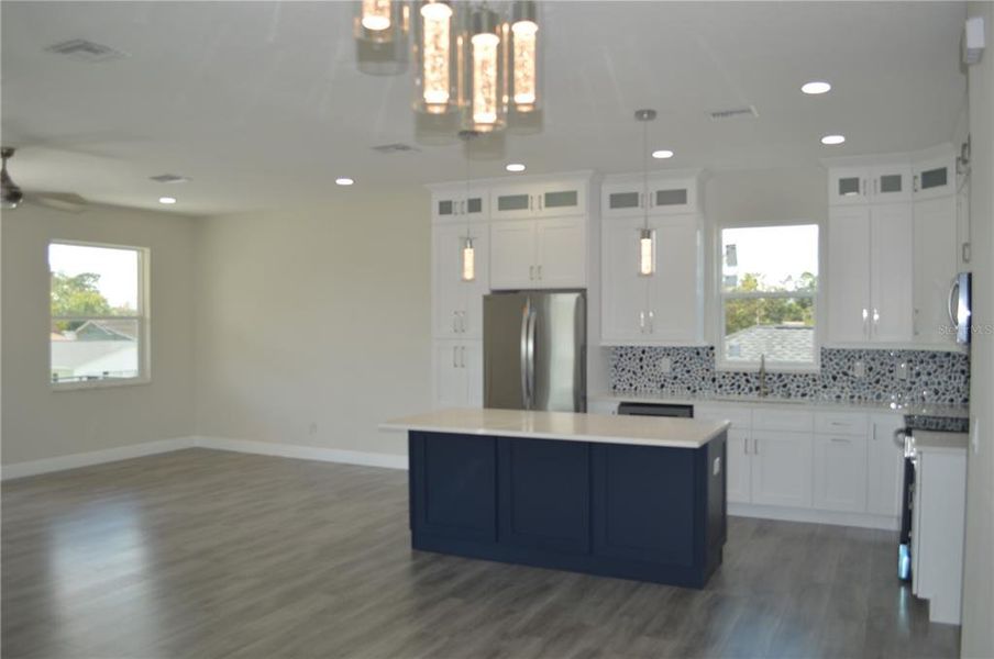
[{"label": "middle of three navy door panels on the island front", "polygon": [[590,550],[590,445],[499,439],[500,544]]}]

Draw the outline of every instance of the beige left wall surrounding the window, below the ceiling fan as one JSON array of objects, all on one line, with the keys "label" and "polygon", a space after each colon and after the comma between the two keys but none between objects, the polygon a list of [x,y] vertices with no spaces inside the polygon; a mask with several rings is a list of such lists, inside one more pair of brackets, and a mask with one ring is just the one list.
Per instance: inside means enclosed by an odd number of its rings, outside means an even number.
[{"label": "beige left wall surrounding the window, below the ceiling fan", "polygon": [[[2,232],[3,465],[185,437],[194,429],[194,221],[25,204]],[[48,263],[53,238],[152,250],[152,382],[99,390],[48,387]]]}]

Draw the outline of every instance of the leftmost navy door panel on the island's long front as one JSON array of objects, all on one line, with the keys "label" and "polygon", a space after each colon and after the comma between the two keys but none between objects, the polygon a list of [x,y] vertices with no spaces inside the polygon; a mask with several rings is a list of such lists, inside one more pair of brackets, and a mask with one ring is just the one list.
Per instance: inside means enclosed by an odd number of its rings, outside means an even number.
[{"label": "leftmost navy door panel on the island's long front", "polygon": [[497,440],[411,433],[412,525],[416,536],[497,539]]}]

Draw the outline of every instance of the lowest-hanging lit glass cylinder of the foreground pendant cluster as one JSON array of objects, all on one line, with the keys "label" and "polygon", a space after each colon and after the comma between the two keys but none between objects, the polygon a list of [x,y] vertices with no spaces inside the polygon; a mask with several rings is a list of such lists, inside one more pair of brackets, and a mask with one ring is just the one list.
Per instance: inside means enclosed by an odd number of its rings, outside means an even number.
[{"label": "lowest-hanging lit glass cylinder of the foreground pendant cluster", "polygon": [[486,5],[473,12],[463,55],[466,81],[463,126],[479,133],[504,127],[507,111],[504,47],[507,24]]}]

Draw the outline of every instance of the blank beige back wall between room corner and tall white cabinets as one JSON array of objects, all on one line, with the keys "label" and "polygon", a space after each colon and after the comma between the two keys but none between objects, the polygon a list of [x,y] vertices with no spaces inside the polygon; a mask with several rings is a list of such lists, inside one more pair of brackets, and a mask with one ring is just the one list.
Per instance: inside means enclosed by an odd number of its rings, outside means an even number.
[{"label": "blank beige back wall between room corner and tall white cabinets", "polygon": [[406,454],[377,424],[431,402],[430,197],[336,197],[201,224],[200,435]]}]

